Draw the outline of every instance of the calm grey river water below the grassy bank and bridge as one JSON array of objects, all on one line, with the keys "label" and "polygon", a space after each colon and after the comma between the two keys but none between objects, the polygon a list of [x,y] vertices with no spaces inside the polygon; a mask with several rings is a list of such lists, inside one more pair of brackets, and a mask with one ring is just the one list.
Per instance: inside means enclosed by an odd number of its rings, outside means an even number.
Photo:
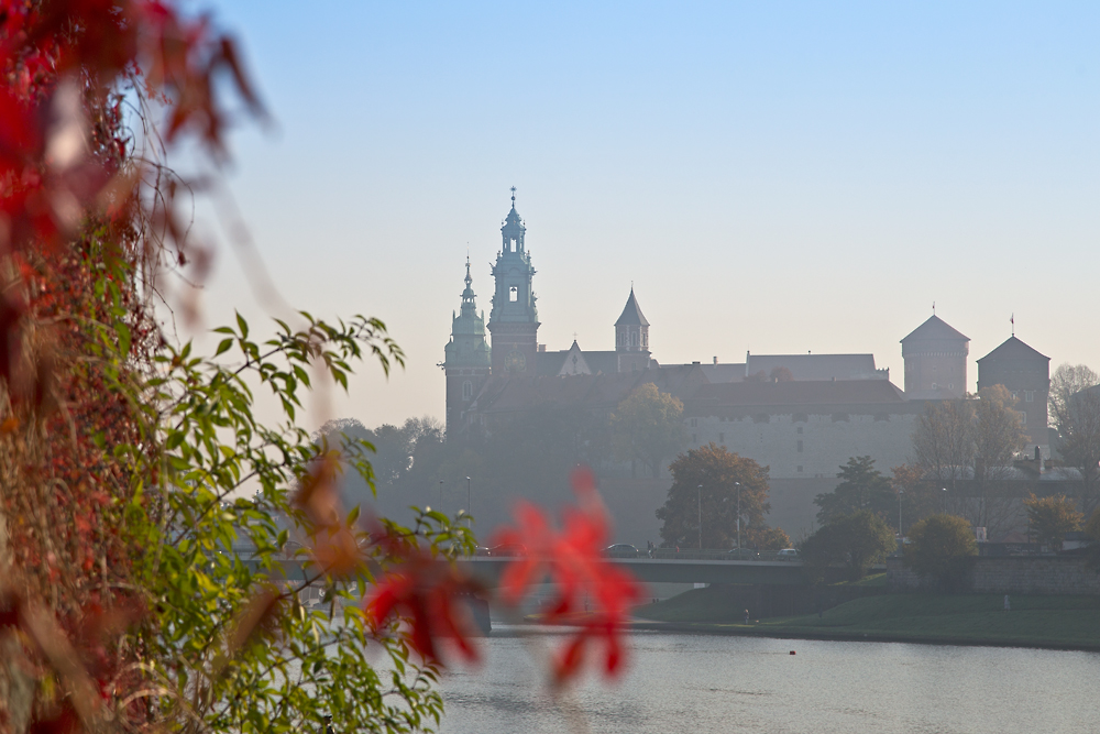
[{"label": "calm grey river water below the grassy bank and bridge", "polygon": [[[563,638],[522,632],[495,628],[480,668],[446,673],[443,734],[575,728],[530,654]],[[566,700],[587,731],[1100,732],[1096,653],[653,632],[630,643],[618,683],[590,676]]]}]

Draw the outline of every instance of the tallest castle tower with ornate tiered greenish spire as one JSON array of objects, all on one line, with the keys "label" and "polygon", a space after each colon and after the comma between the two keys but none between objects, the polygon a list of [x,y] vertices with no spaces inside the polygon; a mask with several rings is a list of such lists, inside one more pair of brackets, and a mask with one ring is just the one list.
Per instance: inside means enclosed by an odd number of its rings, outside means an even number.
[{"label": "tallest castle tower with ornate tiered greenish spire", "polygon": [[539,313],[535,307],[531,278],[535,269],[524,244],[527,228],[516,212],[516,187],[512,187],[512,211],[501,228],[503,244],[496,253],[493,277],[493,310],[488,330],[493,335],[493,374],[534,376],[538,351]]}]

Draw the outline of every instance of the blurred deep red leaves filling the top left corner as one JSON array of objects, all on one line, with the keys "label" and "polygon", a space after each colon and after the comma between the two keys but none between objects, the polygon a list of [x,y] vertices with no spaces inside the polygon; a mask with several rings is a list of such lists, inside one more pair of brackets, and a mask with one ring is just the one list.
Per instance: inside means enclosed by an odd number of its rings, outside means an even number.
[{"label": "blurred deep red leaves filling the top left corner", "polygon": [[[124,79],[165,108],[165,142],[194,133],[219,158],[227,113],[216,77],[228,75],[261,111],[233,41],[166,1],[0,0],[0,261],[55,251],[89,216],[118,221],[146,209],[142,171],[124,165]],[[183,263],[186,228],[176,221],[174,190],[161,190],[161,206],[145,216]],[[0,379],[20,364],[25,318],[12,295],[18,289],[6,284],[0,292]]]}]

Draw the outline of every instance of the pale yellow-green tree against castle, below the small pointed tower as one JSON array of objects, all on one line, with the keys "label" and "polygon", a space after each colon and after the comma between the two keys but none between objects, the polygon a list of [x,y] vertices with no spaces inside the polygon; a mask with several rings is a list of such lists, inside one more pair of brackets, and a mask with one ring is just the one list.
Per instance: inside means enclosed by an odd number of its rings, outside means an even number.
[{"label": "pale yellow-green tree against castle, below the small pointed tower", "polygon": [[651,382],[638,387],[612,414],[612,447],[619,461],[638,461],[659,476],[661,463],[686,442],[684,406]]}]

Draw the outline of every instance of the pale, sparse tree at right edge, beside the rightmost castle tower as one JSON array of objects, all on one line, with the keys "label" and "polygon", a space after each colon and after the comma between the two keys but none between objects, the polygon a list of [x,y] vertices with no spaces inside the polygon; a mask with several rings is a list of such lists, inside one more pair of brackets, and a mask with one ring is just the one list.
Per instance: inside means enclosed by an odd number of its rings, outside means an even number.
[{"label": "pale, sparse tree at right edge, beside the rightmost castle tower", "polygon": [[1050,423],[1058,452],[1081,474],[1081,505],[1100,504],[1100,375],[1084,364],[1059,365],[1050,376]]}]

